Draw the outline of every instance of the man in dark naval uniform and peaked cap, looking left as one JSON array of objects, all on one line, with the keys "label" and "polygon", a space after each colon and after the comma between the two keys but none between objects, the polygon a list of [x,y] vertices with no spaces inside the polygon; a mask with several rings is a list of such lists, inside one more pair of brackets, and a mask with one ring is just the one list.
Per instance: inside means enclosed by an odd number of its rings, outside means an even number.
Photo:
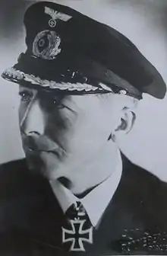
[{"label": "man in dark naval uniform and peaked cap, looking left", "polygon": [[167,250],[166,184],[118,140],[159,72],[126,37],[71,8],[24,16],[27,51],[2,77],[20,85],[26,160],[1,166],[1,251],[11,255],[153,254]]}]

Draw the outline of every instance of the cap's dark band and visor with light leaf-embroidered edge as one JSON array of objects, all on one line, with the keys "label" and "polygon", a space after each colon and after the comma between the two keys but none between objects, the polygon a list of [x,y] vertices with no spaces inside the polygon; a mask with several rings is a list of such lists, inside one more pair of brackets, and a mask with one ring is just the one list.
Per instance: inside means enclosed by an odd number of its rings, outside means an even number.
[{"label": "cap's dark band and visor with light leaf-embroidered edge", "polygon": [[134,98],[142,98],[137,88],[111,70],[83,56],[75,56],[72,59],[69,53],[54,60],[39,59],[28,53],[21,53],[18,63],[5,70],[2,77],[12,82],[24,83],[26,86],[40,85],[43,88],[82,94],[119,93],[125,90],[126,94]]}]

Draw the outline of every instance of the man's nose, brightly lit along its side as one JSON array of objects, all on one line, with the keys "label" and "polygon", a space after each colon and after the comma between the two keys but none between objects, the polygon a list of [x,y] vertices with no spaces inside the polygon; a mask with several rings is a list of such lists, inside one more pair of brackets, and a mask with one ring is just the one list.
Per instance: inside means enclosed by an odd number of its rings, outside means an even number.
[{"label": "man's nose, brightly lit along its side", "polygon": [[38,99],[27,107],[24,117],[20,120],[20,130],[23,130],[27,135],[32,133],[43,135],[45,132],[44,114]]}]

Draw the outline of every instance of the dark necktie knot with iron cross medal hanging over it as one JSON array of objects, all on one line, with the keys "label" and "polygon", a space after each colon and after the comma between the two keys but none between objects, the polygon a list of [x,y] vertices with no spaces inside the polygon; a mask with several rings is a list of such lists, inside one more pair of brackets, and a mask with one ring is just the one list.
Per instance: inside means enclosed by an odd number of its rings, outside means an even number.
[{"label": "dark necktie knot with iron cross medal hanging over it", "polygon": [[67,226],[62,227],[62,243],[68,251],[86,251],[93,244],[93,226],[82,203],[72,204],[65,213]]}]

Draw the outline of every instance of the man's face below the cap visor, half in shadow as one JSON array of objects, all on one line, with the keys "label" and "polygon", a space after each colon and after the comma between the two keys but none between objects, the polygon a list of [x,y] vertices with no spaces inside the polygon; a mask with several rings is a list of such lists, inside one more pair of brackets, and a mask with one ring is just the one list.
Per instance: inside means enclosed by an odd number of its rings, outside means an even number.
[{"label": "man's face below the cap visor, half in shadow", "polygon": [[82,176],[105,152],[118,123],[117,101],[111,93],[63,95],[20,86],[20,133],[30,169],[49,179]]}]

